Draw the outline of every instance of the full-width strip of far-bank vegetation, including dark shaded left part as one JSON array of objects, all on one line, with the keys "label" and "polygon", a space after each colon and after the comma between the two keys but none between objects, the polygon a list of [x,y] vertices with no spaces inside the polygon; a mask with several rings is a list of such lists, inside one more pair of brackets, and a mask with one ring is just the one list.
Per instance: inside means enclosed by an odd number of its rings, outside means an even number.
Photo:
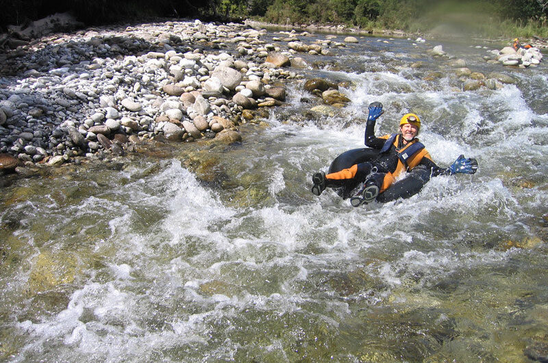
[{"label": "full-width strip of far-bank vegetation, including dark shaded left part", "polygon": [[548,0],[0,0],[0,27],[71,11],[86,25],[164,16],[487,38],[548,38]]}]

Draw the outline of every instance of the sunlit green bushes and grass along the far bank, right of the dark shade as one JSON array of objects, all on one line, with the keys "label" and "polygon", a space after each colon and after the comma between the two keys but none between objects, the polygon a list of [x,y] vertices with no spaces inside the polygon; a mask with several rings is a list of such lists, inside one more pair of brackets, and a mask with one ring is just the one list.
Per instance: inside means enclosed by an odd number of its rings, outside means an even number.
[{"label": "sunlit green bushes and grass along the far bank, right of the dark shade", "polygon": [[[253,0],[260,3],[263,0]],[[249,15],[261,16],[258,4]],[[401,29],[488,38],[548,36],[548,1],[275,0],[262,20],[278,24],[344,24],[364,30]]]}]

